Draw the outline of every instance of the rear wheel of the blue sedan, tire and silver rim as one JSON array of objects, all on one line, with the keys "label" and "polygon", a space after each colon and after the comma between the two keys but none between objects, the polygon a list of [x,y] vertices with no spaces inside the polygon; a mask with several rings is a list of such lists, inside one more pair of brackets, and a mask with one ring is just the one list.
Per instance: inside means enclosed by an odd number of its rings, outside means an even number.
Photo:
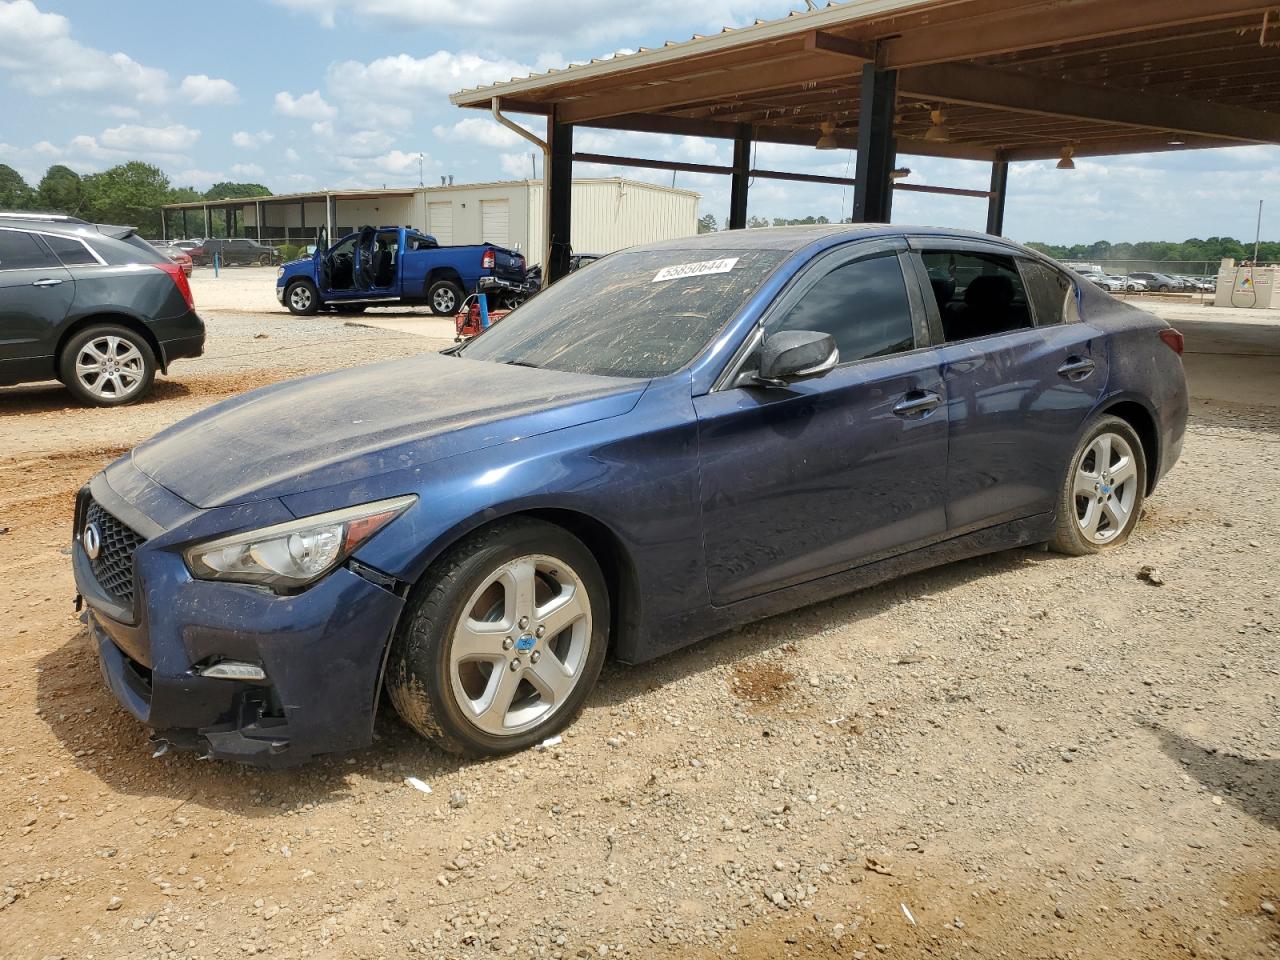
[{"label": "rear wheel of the blue sedan, tire and silver rim", "polygon": [[1097,417],[1071,454],[1050,547],[1073,557],[1121,547],[1146,494],[1147,457],[1138,434],[1120,417]]}]

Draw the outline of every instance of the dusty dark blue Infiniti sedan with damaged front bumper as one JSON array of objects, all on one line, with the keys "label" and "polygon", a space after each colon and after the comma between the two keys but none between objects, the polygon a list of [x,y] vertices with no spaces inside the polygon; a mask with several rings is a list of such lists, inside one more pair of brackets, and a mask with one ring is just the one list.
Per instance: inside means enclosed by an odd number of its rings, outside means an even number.
[{"label": "dusty dark blue Infiniti sedan with damaged front bumper", "polygon": [[385,690],[465,755],[748,621],[1021,545],[1120,547],[1178,460],[1181,337],[1039,253],[884,225],[614,253],[444,355],[255,390],[81,492],[106,682],[283,764]]}]

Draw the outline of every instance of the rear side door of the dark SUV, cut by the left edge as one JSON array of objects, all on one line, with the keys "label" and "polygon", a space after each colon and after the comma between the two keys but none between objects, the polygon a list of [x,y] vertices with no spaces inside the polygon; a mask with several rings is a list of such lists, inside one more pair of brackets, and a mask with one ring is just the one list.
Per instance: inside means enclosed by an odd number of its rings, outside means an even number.
[{"label": "rear side door of the dark SUV, cut by the left edge", "polygon": [[52,376],[76,283],[36,233],[0,228],[0,381]]}]

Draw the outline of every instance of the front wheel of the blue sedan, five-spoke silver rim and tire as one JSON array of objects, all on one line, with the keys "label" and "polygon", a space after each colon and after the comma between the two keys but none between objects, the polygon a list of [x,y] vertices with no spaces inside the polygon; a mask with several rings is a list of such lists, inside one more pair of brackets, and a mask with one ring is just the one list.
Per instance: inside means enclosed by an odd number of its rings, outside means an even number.
[{"label": "front wheel of the blue sedan, five-spoke silver rim and tire", "polygon": [[433,564],[392,641],[387,690],[451,753],[524,750],[581,712],[608,643],[591,552],[540,520],[502,521]]}]

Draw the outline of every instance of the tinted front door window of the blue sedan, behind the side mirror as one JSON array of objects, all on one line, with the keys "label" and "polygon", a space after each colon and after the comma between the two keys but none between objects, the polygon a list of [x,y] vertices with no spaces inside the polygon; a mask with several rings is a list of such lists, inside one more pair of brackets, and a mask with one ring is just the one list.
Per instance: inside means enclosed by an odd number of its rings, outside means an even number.
[{"label": "tinted front door window of the blue sedan, behind the side mirror", "polygon": [[769,333],[817,330],[851,364],[915,348],[902,266],[893,252],[837,266],[801,296]]}]

